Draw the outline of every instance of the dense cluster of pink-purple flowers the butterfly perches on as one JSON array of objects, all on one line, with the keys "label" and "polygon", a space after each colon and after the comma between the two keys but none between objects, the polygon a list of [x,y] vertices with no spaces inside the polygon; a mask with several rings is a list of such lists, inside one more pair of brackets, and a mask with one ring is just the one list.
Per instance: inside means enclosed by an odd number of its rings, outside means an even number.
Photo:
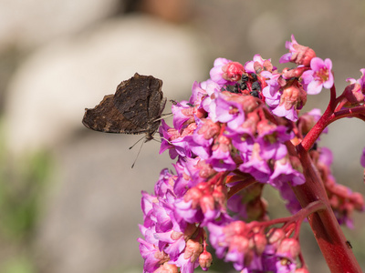
[{"label": "dense cluster of pink-purple flowers the butterfly perches on", "polygon": [[[175,174],[162,170],[154,194],[142,193],[144,239],[139,241],[144,272],[185,273],[199,266],[207,270],[212,255],[206,250],[204,227],[216,256],[233,262],[237,270],[307,272],[290,232],[277,237],[281,229],[254,230],[255,224],[245,224],[268,220],[261,196],[267,185],[280,192],[291,213],[301,209],[292,187],[306,181],[291,147],[315,126],[320,112],[298,116],[298,111],[308,94],[334,85],[329,59],[298,45],[294,36],[287,48],[280,62],[295,63],[295,68],[279,72],[259,55],[245,65],[218,58],[210,78],[193,83],[188,101],[173,102],[172,126],[162,120],[160,127],[160,152],[168,150],[177,158]],[[349,83],[349,100],[363,104],[364,76]],[[351,226],[351,212],[361,210],[363,200],[335,184],[326,148],[316,142],[311,151],[339,222]]]}]

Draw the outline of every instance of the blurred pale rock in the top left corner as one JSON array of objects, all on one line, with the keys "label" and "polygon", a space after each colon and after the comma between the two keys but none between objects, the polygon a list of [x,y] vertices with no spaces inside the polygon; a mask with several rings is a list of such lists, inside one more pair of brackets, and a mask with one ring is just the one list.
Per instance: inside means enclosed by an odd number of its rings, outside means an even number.
[{"label": "blurred pale rock in the top left corner", "polygon": [[120,0],[0,0],[0,51],[77,33],[120,9]]}]

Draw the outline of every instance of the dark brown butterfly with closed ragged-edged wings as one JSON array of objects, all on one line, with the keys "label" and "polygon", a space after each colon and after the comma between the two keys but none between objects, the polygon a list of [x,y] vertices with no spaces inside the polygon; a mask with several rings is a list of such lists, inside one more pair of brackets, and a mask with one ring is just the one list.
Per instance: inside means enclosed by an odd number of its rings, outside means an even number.
[{"label": "dark brown butterfly with closed ragged-edged wings", "polygon": [[105,133],[145,133],[145,141],[149,141],[160,126],[165,104],[162,80],[136,73],[122,81],[114,95],[104,96],[98,106],[85,109],[82,123]]}]

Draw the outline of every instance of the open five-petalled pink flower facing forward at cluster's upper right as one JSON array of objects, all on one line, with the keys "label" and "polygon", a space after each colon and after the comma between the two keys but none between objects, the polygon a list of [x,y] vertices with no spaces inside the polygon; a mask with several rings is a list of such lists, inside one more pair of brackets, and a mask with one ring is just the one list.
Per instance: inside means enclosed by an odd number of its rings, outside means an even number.
[{"label": "open five-petalled pink flower facing forward at cluster's upper right", "polygon": [[333,86],[334,77],[332,74],[332,61],[314,57],[310,61],[311,70],[305,71],[302,78],[304,89],[310,95],[317,95],[323,87],[330,88]]}]

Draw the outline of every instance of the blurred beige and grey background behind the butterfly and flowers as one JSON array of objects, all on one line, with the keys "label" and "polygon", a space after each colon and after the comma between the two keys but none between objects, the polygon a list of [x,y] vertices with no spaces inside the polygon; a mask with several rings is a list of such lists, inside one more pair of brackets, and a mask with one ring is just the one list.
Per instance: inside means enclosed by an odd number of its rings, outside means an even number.
[{"label": "blurred beige and grey background behind the butterfly and flowers", "polygon": [[[245,64],[259,53],[278,64],[291,34],[332,59],[339,92],[360,77],[360,0],[0,0],[0,273],[141,272],[141,190],[172,162],[151,141],[131,169],[140,136],[90,131],[84,108],[135,72],[187,99],[214,58]],[[323,90],[305,109],[327,103]],[[362,194],[364,136],[347,119],[321,141],[338,182]],[[276,193],[266,195],[271,215],[284,215]],[[363,269],[364,224],[356,214],[355,229],[344,227]],[[308,225],[301,241],[311,272],[329,272]]]}]

